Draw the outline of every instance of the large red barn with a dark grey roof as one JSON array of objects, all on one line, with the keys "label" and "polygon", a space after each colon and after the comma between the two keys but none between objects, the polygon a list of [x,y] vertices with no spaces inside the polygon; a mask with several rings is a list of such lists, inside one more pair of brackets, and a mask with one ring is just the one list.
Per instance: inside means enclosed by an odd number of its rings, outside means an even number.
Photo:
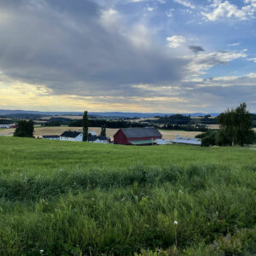
[{"label": "large red barn with a dark grey roof", "polygon": [[125,145],[152,145],[155,139],[161,139],[162,135],[154,127],[148,128],[122,128],[113,136],[114,144]]}]

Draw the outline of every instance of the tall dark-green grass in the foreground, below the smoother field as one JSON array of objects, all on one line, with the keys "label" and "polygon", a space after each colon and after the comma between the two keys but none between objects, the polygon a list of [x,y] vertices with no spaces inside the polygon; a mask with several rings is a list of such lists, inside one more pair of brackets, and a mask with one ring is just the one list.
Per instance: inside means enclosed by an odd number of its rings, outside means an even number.
[{"label": "tall dark-green grass in the foreground, below the smoother field", "polygon": [[[195,164],[1,177],[1,255],[129,255],[252,229],[256,167]],[[173,221],[177,221],[177,226]],[[177,229],[177,230],[176,230]],[[251,251],[256,247],[251,248]]]}]

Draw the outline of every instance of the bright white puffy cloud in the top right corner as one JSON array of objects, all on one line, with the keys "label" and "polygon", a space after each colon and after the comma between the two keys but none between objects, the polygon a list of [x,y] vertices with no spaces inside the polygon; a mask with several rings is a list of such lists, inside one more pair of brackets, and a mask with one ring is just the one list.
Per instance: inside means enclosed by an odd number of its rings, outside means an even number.
[{"label": "bright white puffy cloud in the top right corner", "polygon": [[219,20],[221,18],[236,18],[238,20],[249,20],[254,18],[256,12],[256,3],[254,0],[245,0],[244,3],[248,3],[239,9],[235,4],[229,1],[213,1],[211,12],[201,12],[207,20]]}]

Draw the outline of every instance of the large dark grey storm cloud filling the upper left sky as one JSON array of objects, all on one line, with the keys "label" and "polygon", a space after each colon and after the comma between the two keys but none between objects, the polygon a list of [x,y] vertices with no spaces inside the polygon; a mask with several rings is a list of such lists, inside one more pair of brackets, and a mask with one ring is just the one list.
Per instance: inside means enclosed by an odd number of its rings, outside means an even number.
[{"label": "large dark grey storm cloud filling the upper left sky", "polygon": [[188,60],[131,44],[129,33],[103,24],[101,15],[88,0],[2,0],[0,70],[77,95],[134,95],[131,84],[183,78]]}]

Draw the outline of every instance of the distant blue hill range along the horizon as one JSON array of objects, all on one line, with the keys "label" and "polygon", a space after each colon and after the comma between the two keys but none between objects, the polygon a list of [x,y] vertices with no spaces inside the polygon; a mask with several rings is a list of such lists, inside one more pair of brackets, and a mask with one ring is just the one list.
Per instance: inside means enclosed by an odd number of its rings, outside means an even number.
[{"label": "distant blue hill range along the horizon", "polygon": [[[43,112],[31,110],[5,110],[0,109],[0,115],[10,118],[40,118],[50,115],[82,115],[83,112]],[[90,115],[97,117],[116,117],[116,118],[152,118],[154,116],[173,115],[175,113],[125,113],[125,112],[89,112]],[[191,117],[204,116],[210,114],[211,116],[218,116],[219,113],[182,113],[183,115],[190,115]]]}]

